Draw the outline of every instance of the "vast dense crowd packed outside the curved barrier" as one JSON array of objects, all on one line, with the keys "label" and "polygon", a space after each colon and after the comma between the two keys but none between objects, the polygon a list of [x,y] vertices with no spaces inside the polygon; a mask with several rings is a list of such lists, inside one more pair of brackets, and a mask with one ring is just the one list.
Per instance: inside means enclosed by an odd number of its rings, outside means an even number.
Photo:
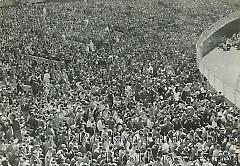
[{"label": "vast dense crowd packed outside the curved barrier", "polygon": [[213,10],[107,2],[1,9],[0,165],[238,166],[239,109],[195,65]]}]

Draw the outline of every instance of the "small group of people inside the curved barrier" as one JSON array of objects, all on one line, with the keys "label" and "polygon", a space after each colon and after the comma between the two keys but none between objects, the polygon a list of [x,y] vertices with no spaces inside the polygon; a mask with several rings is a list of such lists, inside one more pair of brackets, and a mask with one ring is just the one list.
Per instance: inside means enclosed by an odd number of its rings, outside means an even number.
[{"label": "small group of people inside the curved barrier", "polygon": [[223,37],[219,47],[224,51],[229,51],[231,48],[240,49],[240,32],[233,34],[231,38]]}]

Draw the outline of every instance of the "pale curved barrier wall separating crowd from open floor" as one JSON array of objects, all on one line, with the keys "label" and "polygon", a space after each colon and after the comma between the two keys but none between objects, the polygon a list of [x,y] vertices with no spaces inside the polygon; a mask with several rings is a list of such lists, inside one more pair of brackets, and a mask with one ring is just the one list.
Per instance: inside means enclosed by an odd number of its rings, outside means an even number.
[{"label": "pale curved barrier wall separating crowd from open floor", "polygon": [[[200,71],[202,80],[206,78],[206,83],[211,90],[221,92],[228,103],[232,103],[240,107],[240,89],[239,87],[232,87],[228,83],[221,80],[214,72],[214,70],[204,64],[202,58],[211,52],[222,40],[222,36],[230,37],[234,33],[240,31],[240,11],[224,17],[207,30],[205,30],[197,44],[196,44],[196,61],[197,67]],[[240,73],[238,76],[237,85],[240,84]]]}]

